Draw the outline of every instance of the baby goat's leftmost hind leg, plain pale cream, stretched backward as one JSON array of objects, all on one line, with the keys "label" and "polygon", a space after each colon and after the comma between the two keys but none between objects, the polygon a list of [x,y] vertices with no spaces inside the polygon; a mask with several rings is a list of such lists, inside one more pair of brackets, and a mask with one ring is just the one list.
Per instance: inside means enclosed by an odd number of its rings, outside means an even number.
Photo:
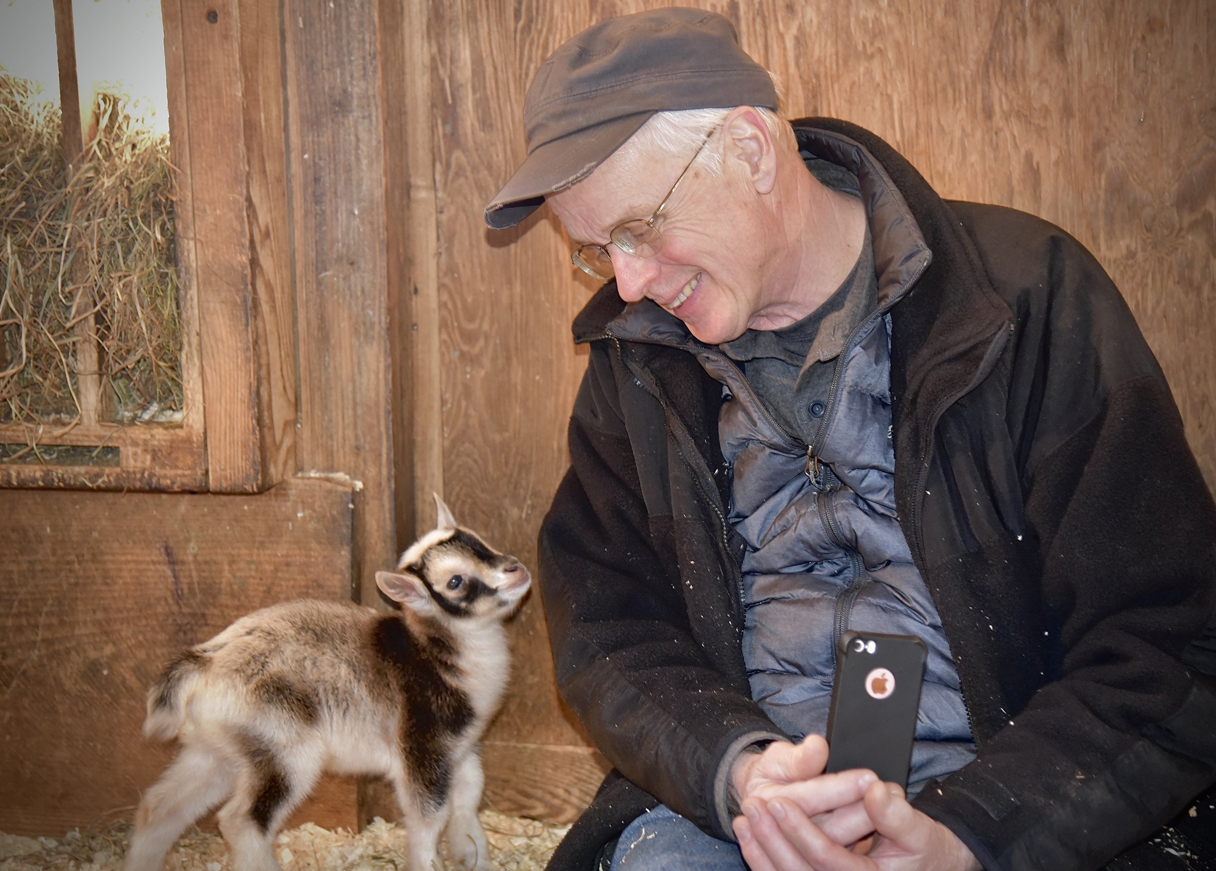
[{"label": "baby goat's leftmost hind leg, plain pale cream, stretched backward", "polygon": [[232,793],[227,760],[206,747],[184,747],[143,793],[123,871],[161,871],[181,832]]}]

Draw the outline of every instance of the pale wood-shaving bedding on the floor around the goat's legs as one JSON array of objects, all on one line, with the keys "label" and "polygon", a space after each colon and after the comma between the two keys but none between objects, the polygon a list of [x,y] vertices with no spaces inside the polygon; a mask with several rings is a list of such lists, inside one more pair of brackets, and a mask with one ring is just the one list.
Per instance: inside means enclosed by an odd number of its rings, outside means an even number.
[{"label": "pale wood-shaving bedding on the floor around the goat's legs", "polygon": [[[502,871],[540,871],[569,826],[482,811],[490,861]],[[118,871],[131,826],[73,830],[63,837],[27,838],[0,832],[0,871]],[[275,855],[283,871],[404,871],[405,828],[378,819],[362,832],[330,831],[313,824],[278,835]],[[165,871],[226,871],[227,849],[218,835],[191,828],[169,854]]]}]

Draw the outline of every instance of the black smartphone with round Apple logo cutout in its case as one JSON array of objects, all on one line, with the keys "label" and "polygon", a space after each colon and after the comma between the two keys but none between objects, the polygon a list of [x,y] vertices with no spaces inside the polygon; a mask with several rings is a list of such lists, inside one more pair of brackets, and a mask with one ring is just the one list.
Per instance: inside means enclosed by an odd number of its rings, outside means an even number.
[{"label": "black smartphone with round Apple logo cutout in its case", "polygon": [[868,768],[907,788],[928,656],[924,641],[913,635],[840,636],[826,771]]}]

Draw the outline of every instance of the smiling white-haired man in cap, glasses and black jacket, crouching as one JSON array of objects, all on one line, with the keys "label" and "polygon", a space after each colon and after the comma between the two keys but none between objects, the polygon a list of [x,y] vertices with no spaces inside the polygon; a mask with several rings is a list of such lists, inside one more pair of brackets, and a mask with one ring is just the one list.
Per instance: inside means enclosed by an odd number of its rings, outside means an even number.
[{"label": "smiling white-haired man in cap, glasses and black jacket, crouching", "polygon": [[[486,208],[608,281],[540,583],[617,771],[551,867],[1200,867],[1216,506],[1131,314],[1057,227],[776,107],[725,18],[604,21]],[[850,628],[928,647],[906,796],[823,774]]]}]

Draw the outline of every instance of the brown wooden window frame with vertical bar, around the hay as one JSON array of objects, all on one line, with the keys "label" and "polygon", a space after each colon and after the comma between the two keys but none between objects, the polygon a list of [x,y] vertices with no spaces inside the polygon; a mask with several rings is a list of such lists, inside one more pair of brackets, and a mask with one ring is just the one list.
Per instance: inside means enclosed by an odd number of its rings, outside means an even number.
[{"label": "brown wooden window frame with vertical bar, around the hay", "polygon": [[[79,153],[71,0],[55,6],[64,150],[72,151],[74,136]],[[253,19],[244,34],[242,7]],[[286,191],[276,190],[286,178],[282,106],[274,101],[281,55],[261,45],[258,27],[269,10],[258,0],[162,0],[178,168],[182,421],[108,423],[94,400],[81,403],[71,427],[0,425],[0,442],[119,450],[118,466],[0,463],[0,487],[257,493],[294,472],[291,252],[276,251],[289,237]],[[269,106],[260,103],[264,94]],[[95,337],[80,339],[86,355],[79,377],[96,382]],[[91,384],[81,393],[98,392]]]}]

